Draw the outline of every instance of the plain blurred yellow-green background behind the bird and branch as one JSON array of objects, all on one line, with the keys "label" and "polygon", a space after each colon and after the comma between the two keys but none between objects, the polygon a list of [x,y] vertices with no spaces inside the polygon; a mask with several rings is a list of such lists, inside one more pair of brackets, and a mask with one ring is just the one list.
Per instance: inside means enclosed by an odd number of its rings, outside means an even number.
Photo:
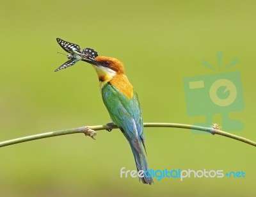
[{"label": "plain blurred yellow-green background behind the bird and branch", "polygon": [[[125,63],[138,91],[144,122],[195,123],[189,117],[184,77],[241,72],[244,111],[230,117],[255,135],[255,1],[3,1],[0,7],[0,140],[109,122],[92,66],[67,58],[56,37]],[[65,53],[65,52],[64,52]],[[65,53],[66,54],[66,53]],[[221,114],[214,116],[221,125]],[[120,178],[136,169],[118,130],[41,139],[0,148],[0,196],[250,196],[255,193],[255,147],[184,129],[147,128],[152,169],[244,171],[246,178],[164,178],[143,185]]]}]

